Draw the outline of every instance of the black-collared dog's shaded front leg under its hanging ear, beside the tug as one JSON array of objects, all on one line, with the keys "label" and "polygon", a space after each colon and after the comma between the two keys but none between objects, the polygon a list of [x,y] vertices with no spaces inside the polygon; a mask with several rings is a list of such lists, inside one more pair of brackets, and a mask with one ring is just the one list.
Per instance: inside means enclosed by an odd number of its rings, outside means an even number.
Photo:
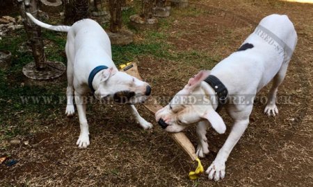
[{"label": "black-collared dog's shaded front leg under its hanging ear, beside the tug", "polygon": [[209,154],[209,144],[207,143],[207,121],[200,121],[197,125],[197,134],[198,134],[198,148],[195,154],[200,158],[204,158],[206,154]]}]

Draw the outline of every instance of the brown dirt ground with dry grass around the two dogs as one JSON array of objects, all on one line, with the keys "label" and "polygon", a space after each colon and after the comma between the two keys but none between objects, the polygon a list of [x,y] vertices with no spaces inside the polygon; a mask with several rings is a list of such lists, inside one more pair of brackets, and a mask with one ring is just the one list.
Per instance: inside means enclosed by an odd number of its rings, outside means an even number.
[{"label": "brown dirt ground with dry grass around the two dogs", "polygon": [[[89,105],[91,144],[81,150],[75,145],[78,116],[66,118],[64,103],[63,109],[51,109],[49,119],[40,118],[40,112],[34,114],[45,130],[15,137],[28,141],[28,145],[10,145],[10,139],[1,144],[6,149],[0,156],[6,154],[18,160],[14,166],[0,165],[1,186],[313,186],[313,4],[191,2],[188,11],[173,10],[168,27],[160,28],[168,36],[166,43],[174,46],[171,50],[187,55],[178,61],[150,55],[137,57],[139,71],[152,84],[154,96],[173,96],[192,75],[211,69],[235,51],[266,15],[287,14],[298,33],[296,51],[278,92],[282,96],[278,100],[280,113],[275,118],[265,116],[265,104],[256,100],[250,125],[226,163],[225,179],[209,181],[205,174],[195,181],[188,179],[195,163],[140,105],[139,112],[154,123],[153,130],[144,131],[134,125],[125,107]],[[141,35],[135,38],[138,42]],[[63,90],[65,93],[65,87]],[[267,92],[268,87],[258,96],[262,98]],[[288,104],[283,100],[286,98]],[[219,135],[209,130],[211,152],[202,159],[204,169],[214,160],[232,127],[227,114],[221,115],[227,132]],[[196,146],[195,127],[186,134]]]}]

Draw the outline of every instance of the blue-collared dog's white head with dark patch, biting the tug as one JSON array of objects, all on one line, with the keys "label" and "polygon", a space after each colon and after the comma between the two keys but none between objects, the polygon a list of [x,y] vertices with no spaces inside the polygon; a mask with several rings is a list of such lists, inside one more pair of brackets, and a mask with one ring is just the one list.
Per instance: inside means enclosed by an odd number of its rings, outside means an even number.
[{"label": "blue-collared dog's white head with dark patch, biting the tug", "polygon": [[150,96],[151,87],[147,82],[113,67],[104,69],[100,77],[99,87],[95,91],[95,96],[99,100],[135,104],[143,103]]}]

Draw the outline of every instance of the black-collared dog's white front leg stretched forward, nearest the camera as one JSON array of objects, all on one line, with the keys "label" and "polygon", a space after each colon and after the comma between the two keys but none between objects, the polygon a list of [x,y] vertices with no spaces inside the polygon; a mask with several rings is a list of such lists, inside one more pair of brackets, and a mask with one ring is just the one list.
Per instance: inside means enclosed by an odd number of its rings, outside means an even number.
[{"label": "black-collared dog's white front leg stretched forward, nearest the camera", "polygon": [[213,163],[211,163],[211,166],[207,168],[206,173],[209,175],[209,179],[218,181],[219,179],[223,179],[225,177],[225,162],[227,161],[230,152],[234,148],[234,145],[236,145],[243,132],[246,130],[248,123],[249,118],[235,121],[234,126],[232,127],[232,131],[230,132],[226,142],[218,151],[218,154]]}]

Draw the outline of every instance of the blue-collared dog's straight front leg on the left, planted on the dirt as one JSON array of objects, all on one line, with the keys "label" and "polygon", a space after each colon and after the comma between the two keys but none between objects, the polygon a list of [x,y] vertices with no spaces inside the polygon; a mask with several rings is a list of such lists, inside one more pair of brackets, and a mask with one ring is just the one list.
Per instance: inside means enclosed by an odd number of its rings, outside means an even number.
[{"label": "blue-collared dog's straight front leg on the left, planted on the dirt", "polygon": [[87,148],[89,145],[89,130],[88,123],[86,118],[86,102],[81,94],[78,94],[75,91],[75,102],[77,107],[77,112],[79,114],[79,126],[81,128],[81,134],[79,135],[79,139],[77,140],[77,145],[79,148]]}]

